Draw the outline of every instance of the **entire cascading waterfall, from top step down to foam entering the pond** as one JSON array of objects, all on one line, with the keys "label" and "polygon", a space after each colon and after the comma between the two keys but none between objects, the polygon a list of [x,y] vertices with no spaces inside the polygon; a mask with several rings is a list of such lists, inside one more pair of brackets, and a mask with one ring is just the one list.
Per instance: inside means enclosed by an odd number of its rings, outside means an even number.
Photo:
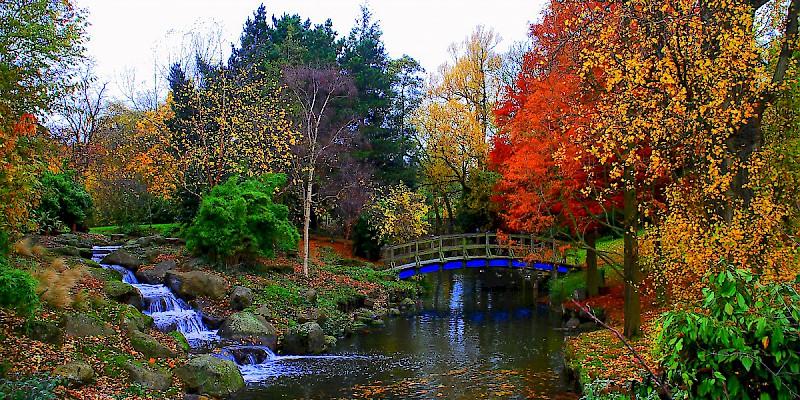
[{"label": "entire cascading waterfall, from top step down to foam entering the pond", "polygon": [[[100,263],[107,255],[121,246],[95,246],[92,248],[92,260]],[[113,269],[122,274],[122,280],[139,290],[144,298],[143,312],[153,317],[154,325],[160,331],[181,332],[189,346],[193,349],[207,348],[226,343],[203,324],[200,314],[185,301],[179,299],[165,285],[147,285],[139,283],[133,272],[120,265],[102,264],[103,268]],[[359,356],[278,356],[269,347],[254,345],[235,345],[222,348],[214,354],[217,357],[231,360],[239,366],[245,382],[260,382],[266,379],[291,373],[298,373],[301,367],[287,364],[291,360],[342,359],[361,358]],[[283,362],[281,362],[283,361]]]}]

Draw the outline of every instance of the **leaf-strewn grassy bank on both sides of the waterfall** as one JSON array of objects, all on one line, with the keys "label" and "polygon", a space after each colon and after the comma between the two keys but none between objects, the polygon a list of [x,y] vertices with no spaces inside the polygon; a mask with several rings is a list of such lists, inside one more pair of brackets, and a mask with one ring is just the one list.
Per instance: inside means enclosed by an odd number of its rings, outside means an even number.
[{"label": "leaf-strewn grassy bank on both sides of the waterfall", "polygon": [[[212,266],[182,243],[160,236],[79,234],[24,238],[14,245],[5,268],[34,277],[41,300],[28,310],[0,308],[0,398],[20,393],[40,399],[184,398],[184,383],[174,371],[190,357],[185,342],[148,327],[146,316],[129,305],[136,299],[125,294],[119,275],[91,261],[92,246],[123,245],[141,261],[140,274],[167,265],[178,274],[202,271],[222,278],[223,296],[185,299],[218,321],[238,311],[232,306],[234,288],[249,289],[252,301],[244,311],[265,316],[275,327],[279,352],[290,326],[315,320],[331,337],[358,333],[365,329],[358,318],[363,307],[386,315],[420,291],[414,282],[400,282],[352,258],[347,243],[327,238],[311,243],[315,262],[307,277],[296,257]],[[154,340],[142,345],[143,336]],[[80,379],[56,378],[74,371]]]}]

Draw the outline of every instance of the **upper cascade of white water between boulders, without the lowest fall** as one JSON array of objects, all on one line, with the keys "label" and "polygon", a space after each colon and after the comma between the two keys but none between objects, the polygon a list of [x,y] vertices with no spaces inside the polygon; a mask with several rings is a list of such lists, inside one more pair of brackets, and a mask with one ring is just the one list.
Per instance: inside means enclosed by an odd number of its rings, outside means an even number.
[{"label": "upper cascade of white water between boulders, without the lowest fall", "polygon": [[[95,246],[92,248],[92,260],[98,263],[103,257],[111,254],[120,246]],[[158,330],[171,332],[177,330],[186,337],[189,346],[193,348],[219,342],[221,339],[217,331],[209,330],[204,324],[200,314],[189,307],[185,301],[175,297],[175,294],[164,285],[147,285],[139,283],[133,272],[119,265],[100,264],[104,268],[119,271],[123,282],[130,283],[144,298],[144,313],[153,317]]]}]

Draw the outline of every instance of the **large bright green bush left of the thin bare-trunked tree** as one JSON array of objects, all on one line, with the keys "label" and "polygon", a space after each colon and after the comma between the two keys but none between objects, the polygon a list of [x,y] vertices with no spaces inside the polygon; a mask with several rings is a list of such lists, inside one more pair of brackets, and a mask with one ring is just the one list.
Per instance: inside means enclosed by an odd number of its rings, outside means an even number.
[{"label": "large bright green bush left of the thin bare-trunked tree", "polygon": [[289,222],[288,207],[272,202],[285,184],[285,175],[267,174],[217,185],[203,198],[186,232],[187,247],[212,261],[229,262],[296,249],[300,234]]}]

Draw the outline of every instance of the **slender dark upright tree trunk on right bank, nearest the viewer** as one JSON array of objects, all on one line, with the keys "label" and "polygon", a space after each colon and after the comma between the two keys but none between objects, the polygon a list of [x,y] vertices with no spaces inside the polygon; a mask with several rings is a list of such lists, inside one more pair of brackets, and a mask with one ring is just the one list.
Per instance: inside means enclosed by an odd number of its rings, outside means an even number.
[{"label": "slender dark upright tree trunk on right bank, nearest the viewer", "polygon": [[625,279],[625,337],[633,338],[639,334],[641,325],[641,299],[639,296],[639,204],[636,199],[636,188],[633,167],[625,167],[624,182],[630,187],[623,194],[623,235],[625,250],[623,260],[623,278]]}]

